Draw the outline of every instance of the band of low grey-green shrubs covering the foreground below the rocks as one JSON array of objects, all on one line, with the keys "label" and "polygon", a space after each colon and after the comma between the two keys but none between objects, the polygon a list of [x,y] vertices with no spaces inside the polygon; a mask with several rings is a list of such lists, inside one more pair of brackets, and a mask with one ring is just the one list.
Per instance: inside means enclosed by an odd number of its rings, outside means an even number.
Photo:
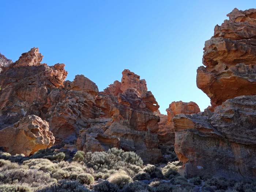
[{"label": "band of low grey-green shrubs covering the foreground below the rocks", "polygon": [[256,181],[211,176],[184,178],[181,162],[143,165],[134,152],[72,155],[54,149],[30,157],[0,152],[1,192],[253,192]]}]

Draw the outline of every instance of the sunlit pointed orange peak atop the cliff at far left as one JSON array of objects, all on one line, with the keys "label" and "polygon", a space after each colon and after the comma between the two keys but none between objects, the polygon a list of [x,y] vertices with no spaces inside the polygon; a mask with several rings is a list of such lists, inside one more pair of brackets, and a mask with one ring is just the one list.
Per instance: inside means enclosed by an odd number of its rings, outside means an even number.
[{"label": "sunlit pointed orange peak atop the cliff at far left", "polygon": [[21,54],[14,67],[43,65],[40,63],[42,59],[43,56],[39,53],[39,49],[32,48],[29,52]]}]

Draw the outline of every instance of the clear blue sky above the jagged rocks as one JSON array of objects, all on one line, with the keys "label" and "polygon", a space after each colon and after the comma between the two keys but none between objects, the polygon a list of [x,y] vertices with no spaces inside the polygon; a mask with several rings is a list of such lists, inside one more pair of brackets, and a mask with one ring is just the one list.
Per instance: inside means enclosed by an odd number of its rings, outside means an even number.
[{"label": "clear blue sky above the jagged rocks", "polygon": [[146,79],[166,113],[172,101],[210,99],[196,87],[204,41],[233,8],[255,0],[1,0],[0,52],[17,60],[38,47],[48,65],[65,63],[102,91],[130,69]]}]

